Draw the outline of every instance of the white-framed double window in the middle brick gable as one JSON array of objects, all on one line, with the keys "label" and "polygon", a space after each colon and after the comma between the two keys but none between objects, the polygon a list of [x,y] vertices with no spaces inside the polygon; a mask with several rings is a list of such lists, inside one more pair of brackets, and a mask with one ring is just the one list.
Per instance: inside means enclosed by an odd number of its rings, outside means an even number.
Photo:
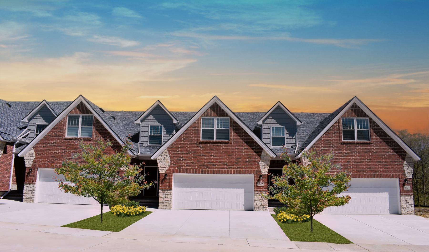
[{"label": "white-framed double window in the middle brick gable", "polygon": [[229,140],[229,117],[202,117],[201,140]]}]

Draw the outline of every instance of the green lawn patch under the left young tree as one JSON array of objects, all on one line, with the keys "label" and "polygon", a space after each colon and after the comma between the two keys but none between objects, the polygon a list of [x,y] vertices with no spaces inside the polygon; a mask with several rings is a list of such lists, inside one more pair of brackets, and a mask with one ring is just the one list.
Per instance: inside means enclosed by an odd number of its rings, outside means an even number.
[{"label": "green lawn patch under the left young tree", "polygon": [[93,216],[88,219],[82,219],[77,222],[73,222],[67,225],[63,225],[63,227],[67,228],[85,228],[85,229],[93,229],[93,230],[103,230],[103,231],[113,231],[119,232],[127,226],[133,224],[134,222],[142,219],[145,216],[148,216],[150,213],[146,211],[142,215],[134,215],[129,217],[119,217],[113,215],[111,212],[103,213],[103,223],[100,223],[100,214],[97,216]]}]

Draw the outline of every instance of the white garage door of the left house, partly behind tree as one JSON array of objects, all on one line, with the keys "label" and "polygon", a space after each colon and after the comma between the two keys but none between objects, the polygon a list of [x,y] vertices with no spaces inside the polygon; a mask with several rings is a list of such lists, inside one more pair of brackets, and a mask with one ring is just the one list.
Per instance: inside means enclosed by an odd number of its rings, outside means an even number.
[{"label": "white garage door of the left house, partly behind tree", "polygon": [[38,181],[36,186],[36,201],[41,203],[63,203],[63,204],[84,204],[98,205],[93,198],[76,196],[72,193],[64,193],[58,188],[58,181],[55,177],[64,179],[63,175],[57,175],[54,169],[38,169]]}]

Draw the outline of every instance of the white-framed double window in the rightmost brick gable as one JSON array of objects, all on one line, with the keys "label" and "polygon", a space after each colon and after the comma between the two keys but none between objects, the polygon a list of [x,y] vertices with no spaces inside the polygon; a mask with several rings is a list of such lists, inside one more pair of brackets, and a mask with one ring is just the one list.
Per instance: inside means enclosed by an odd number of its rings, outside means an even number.
[{"label": "white-framed double window in the rightmost brick gable", "polygon": [[368,118],[341,118],[343,141],[369,141]]}]

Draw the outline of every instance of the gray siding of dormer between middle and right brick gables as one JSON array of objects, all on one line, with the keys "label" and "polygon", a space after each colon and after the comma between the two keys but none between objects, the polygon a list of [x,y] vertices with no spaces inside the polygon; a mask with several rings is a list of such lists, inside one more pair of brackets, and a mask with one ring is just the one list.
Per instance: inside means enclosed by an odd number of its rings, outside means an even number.
[{"label": "gray siding of dormer between middle and right brick gables", "polygon": [[280,107],[276,107],[262,123],[262,140],[268,146],[272,146],[271,126],[284,126],[286,148],[296,147],[296,122]]}]

